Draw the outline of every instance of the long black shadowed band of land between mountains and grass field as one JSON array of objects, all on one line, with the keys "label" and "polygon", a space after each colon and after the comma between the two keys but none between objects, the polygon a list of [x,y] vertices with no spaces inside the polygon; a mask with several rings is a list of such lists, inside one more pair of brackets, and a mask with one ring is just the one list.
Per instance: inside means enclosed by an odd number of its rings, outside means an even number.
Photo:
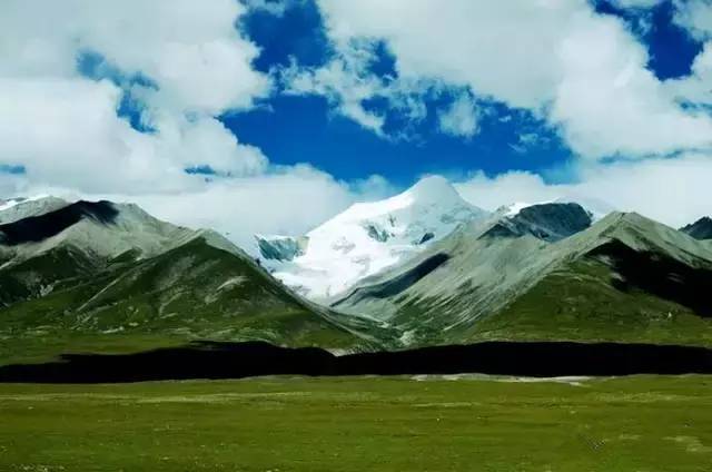
[{"label": "long black shadowed band of land between mountains and grass field", "polygon": [[0,382],[111,383],[259,375],[611,376],[712,374],[712,350],[652,344],[505,343],[336,356],[268,343],[200,342],[136,354],[72,354],[59,362],[0,367]]}]

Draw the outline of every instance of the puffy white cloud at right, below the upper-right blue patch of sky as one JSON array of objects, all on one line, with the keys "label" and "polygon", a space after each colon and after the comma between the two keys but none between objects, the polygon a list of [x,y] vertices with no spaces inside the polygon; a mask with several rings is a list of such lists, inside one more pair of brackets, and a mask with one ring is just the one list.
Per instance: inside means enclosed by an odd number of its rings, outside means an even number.
[{"label": "puffy white cloud at right, below the upper-right blue patch of sky", "polygon": [[611,17],[582,16],[558,48],[551,119],[584,157],[645,157],[712,146],[708,115],[684,111],[645,68],[647,53]]}]

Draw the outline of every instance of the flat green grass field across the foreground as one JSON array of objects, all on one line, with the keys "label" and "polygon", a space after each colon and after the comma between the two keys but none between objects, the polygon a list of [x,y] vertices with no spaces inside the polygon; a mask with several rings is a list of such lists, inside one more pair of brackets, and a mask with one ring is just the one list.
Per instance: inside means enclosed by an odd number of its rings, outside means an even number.
[{"label": "flat green grass field across the foreground", "polygon": [[1,471],[710,471],[712,377],[0,385]]}]

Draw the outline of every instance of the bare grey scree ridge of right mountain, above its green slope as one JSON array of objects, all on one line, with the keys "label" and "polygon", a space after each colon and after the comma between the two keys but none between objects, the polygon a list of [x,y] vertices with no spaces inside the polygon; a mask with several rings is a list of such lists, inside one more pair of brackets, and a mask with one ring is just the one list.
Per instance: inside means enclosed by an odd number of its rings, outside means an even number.
[{"label": "bare grey scree ridge of right mountain, above its green slope", "polygon": [[[491,227],[492,223],[490,226],[471,225],[461,228],[402,267],[366,279],[345,297],[333,301],[332,306],[347,313],[377,315],[384,322],[398,327],[405,345],[469,342],[481,335],[477,334],[477,326],[482,325],[482,319],[497,316],[548,275],[565,271],[571,264],[575,265],[580,260],[589,260],[596,248],[610,247],[606,245],[612,242],[620,242],[633,254],[642,255],[642,260],[647,263],[650,263],[647,256],[651,254],[664,255],[661,260],[670,260],[665,267],[674,267],[678,272],[684,268],[688,281],[698,281],[695,286],[700,285],[700,281],[706,281],[706,275],[700,276],[695,271],[712,274],[712,252],[705,246],[688,235],[636,214],[611,214],[592,227],[554,243],[547,243],[532,234],[517,237],[510,235],[483,237],[487,235]],[[436,256],[443,260],[441,264],[429,267],[427,274],[419,274],[418,277],[412,278],[409,286],[405,288],[399,286],[397,291],[390,291],[409,274],[423,269],[422,264]],[[592,284],[595,282],[595,284],[613,287],[611,281],[615,279],[616,271],[619,273],[621,271],[621,266],[614,265],[616,260],[613,259],[616,254],[602,253],[596,256],[599,257],[596,269],[601,273],[599,275],[607,277],[603,273],[610,272],[611,278],[599,277],[594,281],[590,277],[589,279]],[[626,254],[625,257],[630,258],[631,255]],[[602,268],[600,264],[609,264],[609,266]],[[651,267],[656,266],[653,264]],[[576,266],[576,269],[580,268]],[[625,268],[630,273],[630,264],[625,265]],[[568,274],[570,282],[580,277],[576,271],[568,271]],[[641,274],[633,275],[641,278]],[[663,279],[668,277],[666,273],[662,272],[657,275]],[[633,286],[631,289],[639,288]],[[679,289],[684,292],[682,288]],[[603,288],[601,291],[604,292]],[[622,293],[623,288],[619,292]],[[606,292],[606,296],[614,299],[620,295],[619,292]],[[670,293],[659,292],[657,295],[668,299],[665,296]],[[663,303],[664,299],[656,306],[668,306]],[[584,305],[575,309],[585,312],[585,301],[577,303],[584,303]],[[548,307],[556,309],[554,308],[555,299],[547,304],[543,305],[542,311],[545,312]],[[684,306],[680,312],[693,315],[692,311]],[[541,319],[545,316],[542,314]],[[692,318],[685,319],[689,319],[691,325],[696,323]],[[708,334],[712,333],[712,326],[706,322],[700,327],[703,327]],[[520,334],[512,330],[514,328],[507,331],[507,335],[517,338]],[[552,335],[555,332],[562,332],[562,330],[552,328]],[[542,334],[541,331],[532,331],[532,333]],[[688,334],[692,336],[692,333]],[[705,336],[712,340],[712,335]]]}]

